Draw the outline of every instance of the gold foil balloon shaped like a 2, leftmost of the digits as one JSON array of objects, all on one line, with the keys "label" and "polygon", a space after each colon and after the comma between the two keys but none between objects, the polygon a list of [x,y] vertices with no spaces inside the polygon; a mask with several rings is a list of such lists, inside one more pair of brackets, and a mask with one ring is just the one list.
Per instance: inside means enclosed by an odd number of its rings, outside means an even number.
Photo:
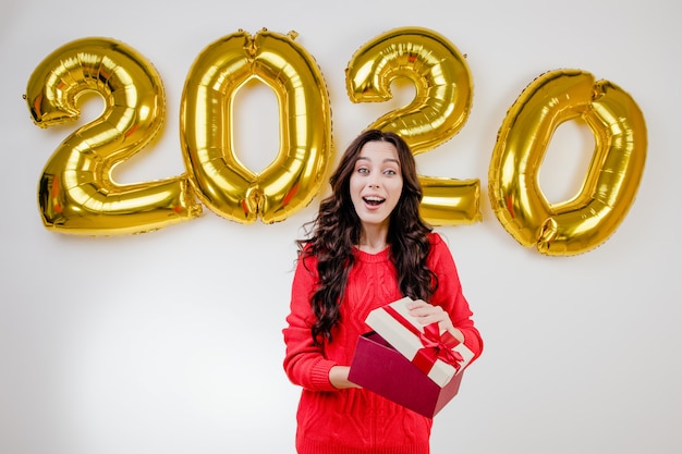
[{"label": "gold foil balloon shaped like a 2, leftmost of the digits", "polygon": [[50,53],[28,79],[25,99],[40,127],[74,121],[78,100],[96,93],[99,118],[54,151],[38,188],[46,228],[78,235],[141,233],[197,217],[187,177],[119,185],[113,168],[161,128],[165,97],[156,70],[135,50],[107,38],[84,38]]}]

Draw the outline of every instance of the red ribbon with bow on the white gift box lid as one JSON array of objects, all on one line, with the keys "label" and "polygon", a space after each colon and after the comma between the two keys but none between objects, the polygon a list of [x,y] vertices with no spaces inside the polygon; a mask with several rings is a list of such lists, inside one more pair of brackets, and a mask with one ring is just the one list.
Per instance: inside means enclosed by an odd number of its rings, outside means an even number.
[{"label": "red ribbon with bow on the white gift box lid", "polygon": [[438,323],[431,323],[424,327],[424,332],[419,331],[414,324],[406,320],[398,310],[391,306],[383,306],[383,309],[395,320],[405,327],[410,332],[417,335],[422,341],[422,348],[419,348],[412,358],[414,364],[421,371],[428,375],[433,369],[437,359],[441,359],[451,366],[454,366],[456,371],[462,367],[461,363],[464,360],[460,352],[455,352],[452,348],[460,344],[450,332],[446,331],[440,334],[440,328]]}]

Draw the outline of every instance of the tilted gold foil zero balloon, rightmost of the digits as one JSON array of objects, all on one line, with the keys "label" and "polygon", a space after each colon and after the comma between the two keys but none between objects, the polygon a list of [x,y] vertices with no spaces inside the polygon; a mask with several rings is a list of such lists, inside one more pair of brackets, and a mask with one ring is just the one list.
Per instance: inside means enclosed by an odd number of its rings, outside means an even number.
[{"label": "tilted gold foil zero balloon, rightmost of the digits", "polygon": [[[580,193],[550,204],[538,183],[557,127],[585,122],[595,151]],[[492,151],[489,196],[504,229],[523,246],[562,256],[605,242],[634,201],[646,158],[646,125],[633,98],[608,81],[557,70],[533,81],[510,108]]]}]

